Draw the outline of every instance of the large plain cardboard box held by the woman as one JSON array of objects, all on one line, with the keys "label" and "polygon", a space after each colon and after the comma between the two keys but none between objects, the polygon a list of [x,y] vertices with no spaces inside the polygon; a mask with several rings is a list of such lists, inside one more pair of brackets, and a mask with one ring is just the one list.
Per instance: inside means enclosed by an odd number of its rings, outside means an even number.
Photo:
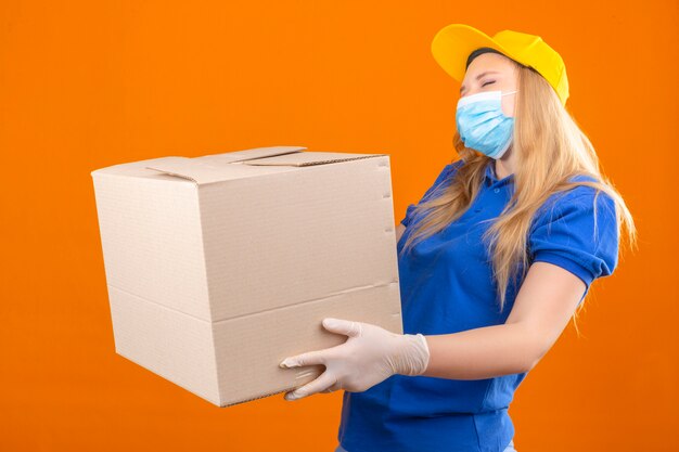
[{"label": "large plain cardboard box held by the woman", "polygon": [[227,406],[324,366],[285,357],[402,333],[389,157],[272,146],[91,172],[120,356]]}]

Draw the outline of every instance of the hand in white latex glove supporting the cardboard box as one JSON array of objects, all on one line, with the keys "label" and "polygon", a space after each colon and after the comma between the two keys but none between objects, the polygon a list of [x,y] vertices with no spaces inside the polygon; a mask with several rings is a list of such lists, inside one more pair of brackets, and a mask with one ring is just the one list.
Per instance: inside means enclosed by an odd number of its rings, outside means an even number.
[{"label": "hand in white latex glove supporting the cardboard box", "polygon": [[325,330],[348,336],[338,346],[285,358],[281,367],[323,364],[315,380],[285,393],[296,400],[317,392],[344,389],[361,392],[394,374],[420,375],[430,361],[430,349],[421,334],[396,334],[370,323],[326,318]]}]

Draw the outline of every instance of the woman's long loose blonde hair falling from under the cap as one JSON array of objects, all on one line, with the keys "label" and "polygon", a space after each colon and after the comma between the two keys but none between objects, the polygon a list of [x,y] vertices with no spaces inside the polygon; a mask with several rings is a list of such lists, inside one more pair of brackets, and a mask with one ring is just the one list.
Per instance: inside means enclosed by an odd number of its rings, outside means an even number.
[{"label": "woman's long loose blonde hair falling from under the cap", "polygon": [[[625,225],[630,245],[636,246],[637,243],[632,216],[613,183],[601,173],[599,157],[590,140],[539,73],[510,61],[516,65],[518,76],[512,142],[512,152],[516,153],[517,162],[514,193],[484,233],[484,241],[492,255],[492,274],[497,282],[500,310],[504,308],[510,279],[523,280],[527,272],[526,245],[533,218],[554,193],[588,185],[597,190],[597,203],[600,192],[605,192],[616,206],[618,237]],[[491,158],[465,147],[457,131],[453,145],[463,160],[462,166],[440,195],[424,199],[415,206],[413,215],[422,215],[422,220],[409,227],[412,231],[403,243],[401,254],[462,216],[479,192],[486,165]],[[593,177],[598,182],[568,182],[576,175]],[[517,271],[520,268],[523,269],[521,275]]]}]

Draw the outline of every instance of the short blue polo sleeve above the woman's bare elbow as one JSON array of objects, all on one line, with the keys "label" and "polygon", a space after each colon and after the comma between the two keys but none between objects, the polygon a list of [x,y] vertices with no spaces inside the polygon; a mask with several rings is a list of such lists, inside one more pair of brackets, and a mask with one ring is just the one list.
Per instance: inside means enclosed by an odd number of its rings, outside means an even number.
[{"label": "short blue polo sleeve above the woman's bare elbow", "polygon": [[615,203],[600,192],[594,204],[594,190],[579,191],[576,196],[560,196],[541,210],[531,225],[529,257],[562,267],[582,280],[584,299],[591,283],[612,274],[617,266]]}]

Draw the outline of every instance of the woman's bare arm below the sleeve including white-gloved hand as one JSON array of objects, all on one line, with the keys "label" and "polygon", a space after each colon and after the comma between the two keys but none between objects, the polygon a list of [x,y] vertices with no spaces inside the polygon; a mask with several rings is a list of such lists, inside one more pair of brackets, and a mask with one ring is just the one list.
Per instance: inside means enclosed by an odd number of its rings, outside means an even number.
[{"label": "woman's bare arm below the sleeve including white-gloved hand", "polygon": [[482,379],[527,372],[561,335],[585,290],[582,281],[549,262],[535,262],[502,325],[448,335],[395,334],[377,325],[324,319],[346,343],[290,357],[281,367],[323,364],[317,379],[285,395],[295,400],[317,392],[363,391],[390,375]]}]

